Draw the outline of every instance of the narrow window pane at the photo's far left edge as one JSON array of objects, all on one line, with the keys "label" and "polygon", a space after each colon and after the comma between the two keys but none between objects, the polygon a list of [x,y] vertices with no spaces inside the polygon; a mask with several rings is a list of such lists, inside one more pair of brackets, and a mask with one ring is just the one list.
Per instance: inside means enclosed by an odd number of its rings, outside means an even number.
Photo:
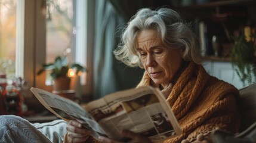
[{"label": "narrow window pane at the photo's far left edge", "polygon": [[15,76],[16,0],[0,1],[0,73]]}]

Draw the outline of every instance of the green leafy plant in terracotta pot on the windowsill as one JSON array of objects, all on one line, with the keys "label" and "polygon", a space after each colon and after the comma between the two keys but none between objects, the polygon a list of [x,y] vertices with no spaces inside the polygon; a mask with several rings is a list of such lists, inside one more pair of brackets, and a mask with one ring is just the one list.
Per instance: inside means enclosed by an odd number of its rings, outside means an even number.
[{"label": "green leafy plant in terracotta pot on the windowsill", "polygon": [[70,77],[67,75],[69,70],[75,70],[75,74],[85,72],[86,68],[80,64],[69,64],[67,57],[56,57],[54,63],[42,64],[42,68],[38,71],[38,75],[46,70],[51,70],[51,77],[53,78],[53,90],[62,91],[69,90]]}]

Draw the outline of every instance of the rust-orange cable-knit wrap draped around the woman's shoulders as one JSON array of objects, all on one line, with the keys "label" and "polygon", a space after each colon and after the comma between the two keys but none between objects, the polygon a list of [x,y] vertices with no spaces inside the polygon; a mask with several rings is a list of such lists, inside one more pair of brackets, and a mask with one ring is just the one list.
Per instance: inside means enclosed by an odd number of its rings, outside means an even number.
[{"label": "rust-orange cable-knit wrap draped around the woman's shoulders", "polygon": [[[151,85],[144,73],[139,86]],[[169,93],[162,92],[171,106],[183,133],[164,142],[195,141],[217,128],[238,132],[240,116],[236,105],[238,89],[209,76],[202,65],[189,63]],[[167,94],[167,95],[166,95]]]}]

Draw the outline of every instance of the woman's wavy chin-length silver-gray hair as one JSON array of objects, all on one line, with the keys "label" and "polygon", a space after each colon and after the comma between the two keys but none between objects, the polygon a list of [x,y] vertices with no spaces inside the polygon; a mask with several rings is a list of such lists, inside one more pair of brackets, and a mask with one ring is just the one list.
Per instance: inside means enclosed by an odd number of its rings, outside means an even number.
[{"label": "woman's wavy chin-length silver-gray hair", "polygon": [[166,47],[183,49],[183,60],[198,64],[202,62],[198,39],[180,15],[169,8],[159,8],[156,11],[143,8],[131,18],[122,33],[118,48],[114,51],[119,61],[130,67],[143,68],[136,49],[136,39],[138,33],[144,29],[155,30]]}]

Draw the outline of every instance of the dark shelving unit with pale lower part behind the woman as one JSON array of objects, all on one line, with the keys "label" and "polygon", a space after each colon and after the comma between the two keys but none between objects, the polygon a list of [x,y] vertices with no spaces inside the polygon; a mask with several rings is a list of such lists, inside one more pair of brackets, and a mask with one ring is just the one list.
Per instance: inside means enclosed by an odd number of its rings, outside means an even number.
[{"label": "dark shelving unit with pale lower part behind the woman", "polygon": [[[205,46],[202,48],[207,51],[205,62],[203,63],[206,71],[218,79],[232,83],[236,88],[246,86],[240,82],[238,74],[233,70],[229,53],[233,47],[232,36],[237,32],[242,32],[243,26],[249,22],[256,26],[256,0],[208,0],[200,4],[181,5],[189,2],[184,1],[186,0],[170,0],[174,4],[171,7],[178,11],[188,23],[192,24],[192,29],[196,35],[199,36],[201,41],[205,42]],[[202,27],[200,29],[199,23],[203,23],[206,26],[203,27],[203,29],[206,29],[203,36],[199,34],[202,33],[200,31]],[[219,42],[222,52],[219,57],[214,56],[212,48],[211,41],[214,35],[221,39]]]}]

